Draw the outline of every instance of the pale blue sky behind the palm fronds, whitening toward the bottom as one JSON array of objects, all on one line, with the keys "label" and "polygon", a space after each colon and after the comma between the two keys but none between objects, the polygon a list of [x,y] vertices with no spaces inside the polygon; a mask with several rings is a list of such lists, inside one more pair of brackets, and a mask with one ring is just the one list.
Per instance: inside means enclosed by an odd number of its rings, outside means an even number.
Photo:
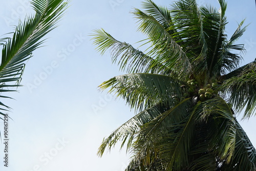
[{"label": "pale blue sky behind the palm fronds, whitening toward the bottom", "polygon": [[[169,6],[172,1],[154,1]],[[198,4],[218,6],[216,0]],[[253,0],[227,0],[226,34],[231,36],[243,19],[250,24],[238,44],[247,49],[241,66],[255,58],[256,7]],[[125,149],[117,146],[99,158],[97,148],[118,126],[134,116],[123,100],[98,90],[105,80],[124,74],[112,64],[110,53],[101,56],[92,45],[94,29],[103,28],[120,41],[136,47],[144,38],[130,13],[141,9],[135,0],[72,0],[58,27],[46,37],[45,47],[34,51],[26,62],[18,92],[7,93],[15,100],[4,103],[12,109],[8,115],[8,167],[4,166],[5,141],[0,143],[0,170],[19,171],[122,171],[129,162]],[[19,18],[33,11],[27,0],[2,1],[0,38],[13,31]],[[1,99],[3,100],[3,99]],[[241,116],[238,117],[241,120]],[[240,121],[256,146],[256,117]],[[4,125],[0,122],[3,134]]]}]

